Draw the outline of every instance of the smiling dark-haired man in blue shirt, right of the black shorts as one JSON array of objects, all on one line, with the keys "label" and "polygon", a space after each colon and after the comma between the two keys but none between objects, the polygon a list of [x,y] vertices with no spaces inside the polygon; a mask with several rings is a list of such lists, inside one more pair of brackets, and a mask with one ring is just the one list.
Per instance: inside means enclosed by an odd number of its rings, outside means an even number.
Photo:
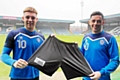
[{"label": "smiling dark-haired man in blue shirt, right of the black shorts", "polygon": [[92,31],[84,36],[80,50],[94,72],[83,79],[111,80],[110,73],[119,65],[117,41],[103,30],[104,16],[101,12],[93,12],[88,24]]}]

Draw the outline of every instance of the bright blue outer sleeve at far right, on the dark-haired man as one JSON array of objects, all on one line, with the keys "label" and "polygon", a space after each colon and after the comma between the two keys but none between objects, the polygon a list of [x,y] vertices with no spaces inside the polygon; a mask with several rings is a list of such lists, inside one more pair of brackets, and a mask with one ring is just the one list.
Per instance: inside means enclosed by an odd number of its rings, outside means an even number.
[{"label": "bright blue outer sleeve at far right, on the dark-haired man", "polygon": [[117,41],[114,37],[112,37],[109,41],[108,47],[110,62],[109,64],[100,70],[101,74],[110,74],[111,72],[115,71],[116,68],[119,66],[119,49],[117,45]]}]

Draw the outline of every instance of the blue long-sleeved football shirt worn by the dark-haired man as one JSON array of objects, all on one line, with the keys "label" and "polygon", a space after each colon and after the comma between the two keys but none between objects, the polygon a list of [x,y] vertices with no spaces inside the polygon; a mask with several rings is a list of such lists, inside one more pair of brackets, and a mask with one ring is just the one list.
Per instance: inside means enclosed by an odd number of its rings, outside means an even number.
[{"label": "blue long-sleeved football shirt worn by the dark-haired man", "polygon": [[83,38],[81,52],[91,68],[101,72],[100,80],[110,80],[110,73],[119,65],[118,45],[114,36],[104,31],[87,34]]}]

